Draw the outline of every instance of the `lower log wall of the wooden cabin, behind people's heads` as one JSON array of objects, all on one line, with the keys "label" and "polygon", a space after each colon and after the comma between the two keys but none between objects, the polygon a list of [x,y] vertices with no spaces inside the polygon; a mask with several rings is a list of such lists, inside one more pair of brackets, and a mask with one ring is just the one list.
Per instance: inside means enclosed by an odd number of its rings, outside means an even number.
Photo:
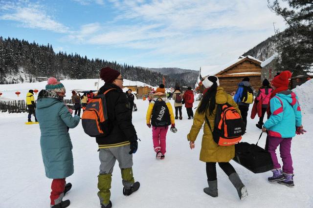
[{"label": "lower log wall of the wooden cabin, behind people's heads", "polygon": [[[251,86],[258,91],[261,86],[261,76],[248,76],[250,78]],[[220,86],[224,88],[227,93],[232,93],[237,90],[238,84],[244,77],[220,77]]]}]

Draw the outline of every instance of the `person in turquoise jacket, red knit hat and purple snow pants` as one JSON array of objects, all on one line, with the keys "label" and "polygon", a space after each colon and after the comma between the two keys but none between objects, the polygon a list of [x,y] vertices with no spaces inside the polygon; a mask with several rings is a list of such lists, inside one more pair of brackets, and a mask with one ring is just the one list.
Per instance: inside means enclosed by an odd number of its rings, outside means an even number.
[{"label": "person in turquoise jacket, red knit hat and purple snow pants", "polygon": [[[298,97],[288,89],[290,71],[283,71],[272,80],[273,91],[270,95],[270,116],[263,125],[262,131],[268,132],[268,152],[273,161],[273,176],[269,182],[278,182],[293,187],[293,167],[291,159],[291,140],[295,134],[303,134],[301,109]],[[283,170],[278,163],[276,148],[279,146]]]}]

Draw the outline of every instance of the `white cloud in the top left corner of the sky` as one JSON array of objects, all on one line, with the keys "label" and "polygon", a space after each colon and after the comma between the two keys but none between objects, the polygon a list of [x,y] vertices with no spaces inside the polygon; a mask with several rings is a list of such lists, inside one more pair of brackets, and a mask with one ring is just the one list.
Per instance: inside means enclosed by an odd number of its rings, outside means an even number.
[{"label": "white cloud in the top left corner of the sky", "polygon": [[22,27],[39,28],[57,33],[68,33],[69,28],[46,14],[45,8],[39,4],[29,3],[28,1],[18,1],[16,3],[5,2],[1,6],[4,13],[0,20],[17,21]]}]

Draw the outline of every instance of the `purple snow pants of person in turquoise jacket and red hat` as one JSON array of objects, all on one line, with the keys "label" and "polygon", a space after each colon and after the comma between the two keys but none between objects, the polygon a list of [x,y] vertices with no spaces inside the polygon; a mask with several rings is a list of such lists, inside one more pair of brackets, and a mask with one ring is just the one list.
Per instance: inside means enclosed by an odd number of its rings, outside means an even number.
[{"label": "purple snow pants of person in turquoise jacket and red hat", "polygon": [[276,148],[279,146],[280,157],[283,161],[283,172],[293,174],[291,159],[291,139],[268,136],[268,152],[272,158],[275,169],[281,168],[276,156]]}]

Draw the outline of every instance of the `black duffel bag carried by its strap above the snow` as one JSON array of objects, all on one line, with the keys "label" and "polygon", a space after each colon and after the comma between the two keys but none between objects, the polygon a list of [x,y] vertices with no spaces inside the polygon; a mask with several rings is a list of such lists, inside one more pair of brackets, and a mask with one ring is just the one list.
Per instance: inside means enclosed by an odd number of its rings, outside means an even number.
[{"label": "black duffel bag carried by its strap above the snow", "polygon": [[[259,140],[262,133],[259,137]],[[258,142],[259,142],[258,140]],[[273,162],[268,151],[256,144],[241,142],[235,145],[233,160],[254,173],[263,173],[273,169]]]}]

